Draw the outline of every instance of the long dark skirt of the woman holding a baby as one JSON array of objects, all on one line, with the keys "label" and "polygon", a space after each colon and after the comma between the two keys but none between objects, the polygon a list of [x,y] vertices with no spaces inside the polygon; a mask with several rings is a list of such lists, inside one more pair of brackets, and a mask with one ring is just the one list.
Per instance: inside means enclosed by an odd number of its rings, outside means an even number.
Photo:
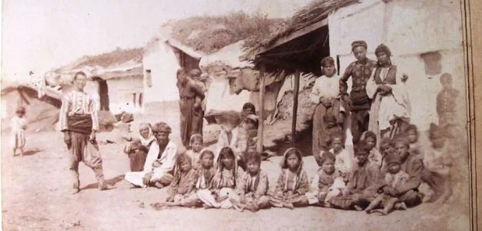
[{"label": "long dark skirt of the woman holding a baby", "polygon": [[202,111],[202,107],[194,107],[195,103],[196,98],[179,100],[180,135],[184,146],[189,146],[191,135],[202,135],[202,118],[204,118],[204,111]]}]

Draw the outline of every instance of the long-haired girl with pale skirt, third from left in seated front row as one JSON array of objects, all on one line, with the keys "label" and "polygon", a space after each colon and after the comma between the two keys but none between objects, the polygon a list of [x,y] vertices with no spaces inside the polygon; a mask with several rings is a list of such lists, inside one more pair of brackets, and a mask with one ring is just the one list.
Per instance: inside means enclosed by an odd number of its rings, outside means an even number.
[{"label": "long-haired girl with pale skirt, third from left in seated front row", "polygon": [[205,208],[233,208],[229,195],[235,193],[234,190],[244,174],[235,159],[231,148],[221,148],[209,190],[198,191],[198,197],[205,203]]}]

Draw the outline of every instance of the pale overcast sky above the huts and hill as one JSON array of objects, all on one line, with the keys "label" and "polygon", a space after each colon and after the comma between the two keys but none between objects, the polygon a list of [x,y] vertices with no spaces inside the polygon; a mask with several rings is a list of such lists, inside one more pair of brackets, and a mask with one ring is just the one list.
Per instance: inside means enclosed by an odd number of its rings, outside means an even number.
[{"label": "pale overcast sky above the huts and hill", "polygon": [[24,80],[116,47],[141,47],[170,19],[243,10],[289,17],[311,0],[3,0],[2,79]]}]

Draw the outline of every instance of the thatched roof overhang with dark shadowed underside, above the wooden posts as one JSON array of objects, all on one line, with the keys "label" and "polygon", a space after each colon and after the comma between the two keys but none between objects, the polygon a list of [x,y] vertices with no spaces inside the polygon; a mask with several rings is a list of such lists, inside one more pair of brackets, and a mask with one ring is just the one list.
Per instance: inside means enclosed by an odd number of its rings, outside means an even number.
[{"label": "thatched roof overhang with dark shadowed underside, above the wooden posts", "polygon": [[298,10],[280,32],[248,50],[243,58],[266,72],[319,74],[319,61],[329,56],[328,14],[360,0],[315,0]]}]

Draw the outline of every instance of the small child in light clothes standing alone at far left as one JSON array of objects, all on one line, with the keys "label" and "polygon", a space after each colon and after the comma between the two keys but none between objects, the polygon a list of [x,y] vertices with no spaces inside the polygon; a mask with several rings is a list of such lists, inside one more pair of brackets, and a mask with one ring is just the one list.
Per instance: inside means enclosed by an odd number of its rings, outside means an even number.
[{"label": "small child in light clothes standing alone at far left", "polygon": [[23,148],[25,147],[25,129],[27,129],[27,120],[23,117],[25,115],[25,107],[17,107],[15,116],[12,118],[12,148],[13,156],[17,155],[17,150],[20,151],[20,156],[23,156]]}]

